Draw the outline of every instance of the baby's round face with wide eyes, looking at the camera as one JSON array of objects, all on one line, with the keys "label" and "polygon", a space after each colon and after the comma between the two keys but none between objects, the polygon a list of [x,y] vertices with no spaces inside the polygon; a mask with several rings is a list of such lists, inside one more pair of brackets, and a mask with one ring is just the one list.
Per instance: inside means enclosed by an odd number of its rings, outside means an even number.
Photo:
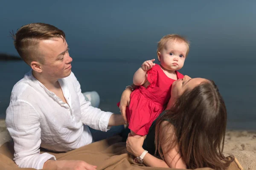
[{"label": "baby's round face with wide eyes, looking at the camera", "polygon": [[183,67],[188,45],[184,42],[168,41],[158,52],[157,57],[161,65],[167,70],[175,71]]}]

